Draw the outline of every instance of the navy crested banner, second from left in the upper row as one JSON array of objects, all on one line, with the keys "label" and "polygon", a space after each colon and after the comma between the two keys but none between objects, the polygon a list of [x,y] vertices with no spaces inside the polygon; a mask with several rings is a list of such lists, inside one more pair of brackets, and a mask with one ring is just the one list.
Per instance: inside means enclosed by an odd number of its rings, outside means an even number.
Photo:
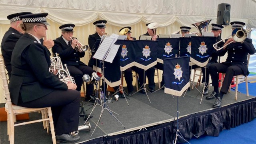
[{"label": "navy crested banner, second from left in the upper row", "polygon": [[138,40],[136,41],[136,56],[134,66],[148,70],[157,64],[158,41]]}]

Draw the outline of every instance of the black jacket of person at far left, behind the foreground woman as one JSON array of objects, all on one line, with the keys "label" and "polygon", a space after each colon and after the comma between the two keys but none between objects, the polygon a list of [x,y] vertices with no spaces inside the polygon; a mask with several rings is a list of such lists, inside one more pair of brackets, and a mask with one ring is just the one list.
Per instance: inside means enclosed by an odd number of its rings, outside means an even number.
[{"label": "black jacket of person at far left, behind the foreground woman", "polygon": [[14,49],[14,46],[16,42],[20,39],[20,37],[23,34],[18,32],[18,30],[15,30],[14,28],[9,28],[9,30],[4,34],[4,37],[2,39],[1,43],[1,50],[2,55],[4,57],[4,64],[6,66],[8,76],[10,78],[12,66],[11,66],[11,57],[12,57],[12,51]]}]

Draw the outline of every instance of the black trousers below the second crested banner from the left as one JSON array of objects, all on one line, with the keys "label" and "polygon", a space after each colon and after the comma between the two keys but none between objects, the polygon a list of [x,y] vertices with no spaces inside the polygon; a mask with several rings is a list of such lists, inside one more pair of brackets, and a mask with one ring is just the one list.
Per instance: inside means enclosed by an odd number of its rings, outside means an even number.
[{"label": "black trousers below the second crested banner from the left", "polygon": [[[139,83],[140,86],[142,86],[142,84],[146,83],[146,77],[148,77],[148,88],[150,89],[155,89],[155,82],[154,82],[154,76],[155,76],[155,68],[149,68],[148,70],[145,71],[145,76],[144,76],[144,70],[141,68],[138,68],[136,66],[132,67],[132,69],[137,72],[137,74],[139,75]],[[143,77],[144,76],[144,77]],[[144,82],[143,82],[144,80]]]}]

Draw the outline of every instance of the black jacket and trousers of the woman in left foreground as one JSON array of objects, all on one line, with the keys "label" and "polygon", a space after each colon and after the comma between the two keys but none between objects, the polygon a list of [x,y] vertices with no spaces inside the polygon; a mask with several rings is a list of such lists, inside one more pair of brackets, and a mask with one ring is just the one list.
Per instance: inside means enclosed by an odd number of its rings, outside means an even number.
[{"label": "black jacket and trousers of the woman in left foreground", "polygon": [[9,90],[12,103],[28,108],[52,107],[56,134],[78,129],[80,93],[49,72],[49,50],[25,33],[12,52]]}]

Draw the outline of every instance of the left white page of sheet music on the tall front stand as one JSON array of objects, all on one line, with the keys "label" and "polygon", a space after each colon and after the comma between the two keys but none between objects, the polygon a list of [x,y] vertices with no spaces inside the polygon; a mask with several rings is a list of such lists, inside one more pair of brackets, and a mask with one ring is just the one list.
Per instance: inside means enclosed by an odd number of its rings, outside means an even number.
[{"label": "left white page of sheet music on the tall front stand", "polygon": [[98,50],[95,52],[93,58],[96,58],[98,60],[104,60],[104,57],[106,56],[110,46],[113,44],[114,38],[106,37],[100,44]]}]

